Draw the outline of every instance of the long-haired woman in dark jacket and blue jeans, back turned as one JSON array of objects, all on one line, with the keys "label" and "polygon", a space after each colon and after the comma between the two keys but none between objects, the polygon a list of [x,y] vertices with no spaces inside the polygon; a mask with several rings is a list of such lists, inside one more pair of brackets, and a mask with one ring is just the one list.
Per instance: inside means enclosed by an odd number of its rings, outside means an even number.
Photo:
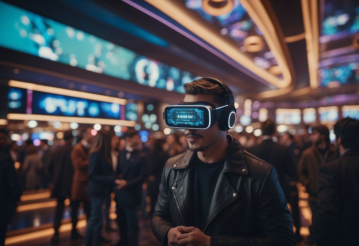
[{"label": "long-haired woman in dark jacket and blue jeans, back turned", "polygon": [[[86,193],[90,196],[91,216],[88,219],[85,245],[101,245],[102,207],[111,193],[115,181],[111,158],[111,135],[99,130],[93,139],[88,160],[88,186]],[[108,241],[108,240],[106,240]]]}]

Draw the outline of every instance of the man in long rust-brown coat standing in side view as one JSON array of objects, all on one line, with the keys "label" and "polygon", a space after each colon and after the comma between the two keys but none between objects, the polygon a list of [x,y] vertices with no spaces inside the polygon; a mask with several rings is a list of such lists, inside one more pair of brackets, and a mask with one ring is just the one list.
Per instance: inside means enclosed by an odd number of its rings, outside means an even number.
[{"label": "man in long rust-brown coat standing in side view", "polygon": [[83,238],[83,236],[76,230],[78,222],[77,211],[80,202],[84,203],[87,220],[90,217],[90,199],[86,193],[86,187],[88,184],[88,154],[93,139],[91,130],[92,129],[90,127],[79,129],[81,140],[71,151],[71,162],[74,167],[74,175],[71,186],[71,222],[73,225],[71,238],[73,239]]}]

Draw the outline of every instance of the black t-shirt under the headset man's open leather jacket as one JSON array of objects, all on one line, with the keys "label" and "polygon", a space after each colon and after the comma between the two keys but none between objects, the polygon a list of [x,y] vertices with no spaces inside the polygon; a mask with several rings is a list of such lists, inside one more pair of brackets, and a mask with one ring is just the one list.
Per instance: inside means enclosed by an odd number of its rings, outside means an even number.
[{"label": "black t-shirt under the headset man's open leather jacket", "polygon": [[224,159],[214,163],[204,163],[197,157],[194,169],[194,226],[204,230],[209,207],[219,175],[222,173]]}]

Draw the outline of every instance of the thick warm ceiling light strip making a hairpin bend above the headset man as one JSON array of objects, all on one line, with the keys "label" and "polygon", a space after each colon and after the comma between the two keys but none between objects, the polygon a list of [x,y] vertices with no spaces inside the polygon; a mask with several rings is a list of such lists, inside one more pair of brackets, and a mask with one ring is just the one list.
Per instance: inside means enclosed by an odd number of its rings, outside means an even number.
[{"label": "thick warm ceiling light strip making a hairpin bend above the headset man", "polygon": [[[237,45],[225,41],[219,33],[207,28],[207,26],[205,26],[204,23],[198,22],[198,20],[195,19],[194,16],[191,16],[188,13],[188,10],[185,7],[180,6],[180,4],[183,5],[182,2],[178,3],[177,1],[167,1],[167,0],[145,0],[145,1],[153,5],[155,8],[159,9],[163,13],[167,14],[169,17],[174,19],[176,22],[180,23],[183,27],[187,28],[191,32],[195,33],[198,37],[200,37],[207,43],[216,47],[219,51],[223,52],[225,55],[232,58],[234,61],[238,62],[238,64],[241,64],[244,68],[253,72],[257,76],[261,77],[262,79],[268,81],[270,84],[278,88],[283,88],[289,86],[290,83],[292,82],[289,68],[286,64],[285,58],[282,55],[283,50],[277,51],[279,47],[279,43],[272,40],[268,41],[267,38],[270,38],[268,37],[268,35],[266,37],[266,41],[267,43],[268,42],[271,43],[269,44],[271,49],[276,50],[274,52],[274,55],[275,58],[278,60],[278,64],[281,66],[284,80],[280,80],[278,77],[270,74],[269,71],[258,67],[249,57],[245,56],[241,51],[239,51]],[[126,0],[126,2],[129,1]],[[260,2],[258,1],[258,3]],[[260,5],[262,4],[260,3]],[[266,15],[268,16],[267,13]],[[273,30],[274,27],[271,28],[270,33],[273,32]],[[263,32],[264,30],[261,31]],[[279,57],[279,55],[281,57]]]}]

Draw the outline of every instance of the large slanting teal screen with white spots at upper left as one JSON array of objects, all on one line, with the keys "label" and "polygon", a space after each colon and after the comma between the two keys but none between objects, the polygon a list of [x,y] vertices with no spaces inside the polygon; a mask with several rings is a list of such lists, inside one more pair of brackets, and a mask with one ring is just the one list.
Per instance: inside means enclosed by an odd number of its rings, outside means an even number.
[{"label": "large slanting teal screen with white spots at upper left", "polygon": [[199,78],[2,1],[0,9],[2,47],[178,93],[184,92],[183,84]]}]

